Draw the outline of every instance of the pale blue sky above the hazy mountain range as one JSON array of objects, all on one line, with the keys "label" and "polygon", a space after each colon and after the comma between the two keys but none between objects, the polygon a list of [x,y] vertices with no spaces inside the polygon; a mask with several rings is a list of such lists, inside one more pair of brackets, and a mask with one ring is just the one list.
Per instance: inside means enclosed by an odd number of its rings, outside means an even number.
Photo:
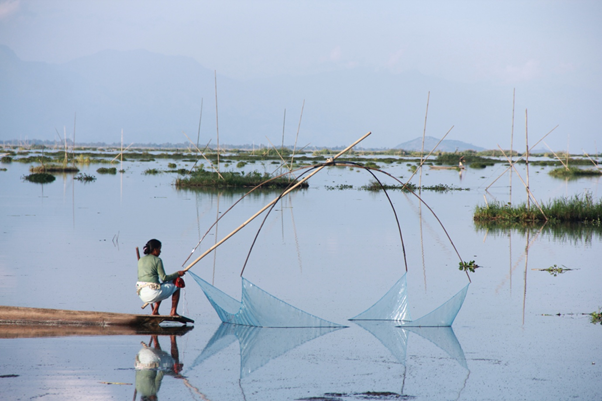
[{"label": "pale blue sky above the hazy mountain range", "polygon": [[[602,96],[599,0],[0,0],[0,44],[48,63],[145,49],[192,57],[237,80],[417,71],[508,88],[509,99],[513,88]],[[579,116],[589,128],[571,139],[575,146],[591,149],[602,138],[593,114]],[[564,128],[550,139],[556,147],[567,143]]]}]

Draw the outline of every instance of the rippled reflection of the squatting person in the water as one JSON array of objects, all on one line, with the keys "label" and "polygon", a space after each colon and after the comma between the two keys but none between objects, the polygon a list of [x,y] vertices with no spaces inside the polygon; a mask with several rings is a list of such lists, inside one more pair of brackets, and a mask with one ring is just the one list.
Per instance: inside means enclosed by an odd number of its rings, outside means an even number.
[{"label": "rippled reflection of the squatting person in the water", "polygon": [[[164,375],[183,378],[180,375],[180,363],[176,336],[170,336],[171,355],[161,349],[158,336],[151,336],[148,345],[143,341],[142,349],[136,355],[136,392],[141,400],[157,400],[157,393],[161,388]],[[153,347],[154,343],[154,347]],[[134,397],[136,398],[136,397]]]}]

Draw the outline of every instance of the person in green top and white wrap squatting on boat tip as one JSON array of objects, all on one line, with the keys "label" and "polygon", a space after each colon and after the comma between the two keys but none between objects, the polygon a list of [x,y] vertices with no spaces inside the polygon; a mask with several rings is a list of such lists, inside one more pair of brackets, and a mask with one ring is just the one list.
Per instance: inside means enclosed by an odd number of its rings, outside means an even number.
[{"label": "person in green top and white wrap squatting on boat tip", "polygon": [[176,309],[180,301],[180,288],[184,287],[184,280],[180,277],[186,272],[183,270],[172,274],[165,274],[161,254],[161,242],[152,239],[144,245],[144,255],[138,260],[138,282],[136,290],[143,302],[153,304],[152,314],[159,314],[161,301],[171,297],[170,316],[179,316]]}]

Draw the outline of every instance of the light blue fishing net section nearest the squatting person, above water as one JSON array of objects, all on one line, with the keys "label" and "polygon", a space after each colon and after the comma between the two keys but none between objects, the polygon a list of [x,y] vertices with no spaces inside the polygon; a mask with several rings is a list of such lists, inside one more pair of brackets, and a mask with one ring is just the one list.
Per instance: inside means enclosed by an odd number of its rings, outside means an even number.
[{"label": "light blue fishing net section nearest the squatting person, above water", "polygon": [[295,308],[257,287],[244,277],[237,301],[189,272],[224,323],[256,327],[344,327]]}]

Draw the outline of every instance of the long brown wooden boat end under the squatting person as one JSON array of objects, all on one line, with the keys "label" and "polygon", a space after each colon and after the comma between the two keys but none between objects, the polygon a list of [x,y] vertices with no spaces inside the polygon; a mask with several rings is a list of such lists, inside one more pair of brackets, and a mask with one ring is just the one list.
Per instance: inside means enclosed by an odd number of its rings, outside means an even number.
[{"label": "long brown wooden boat end under the squatting person", "polygon": [[177,322],[187,325],[194,323],[194,320],[184,316],[0,306],[0,330],[5,325],[157,328],[162,322]]}]

